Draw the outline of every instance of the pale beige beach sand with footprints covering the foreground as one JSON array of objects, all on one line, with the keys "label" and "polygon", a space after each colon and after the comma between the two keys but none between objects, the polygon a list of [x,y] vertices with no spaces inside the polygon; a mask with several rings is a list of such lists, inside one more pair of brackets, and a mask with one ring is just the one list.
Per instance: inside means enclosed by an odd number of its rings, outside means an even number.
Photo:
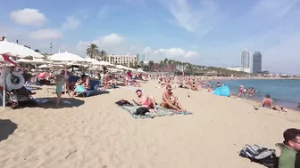
[{"label": "pale beige beach sand with footprints covering the foreground", "polygon": [[[163,89],[154,85],[143,88],[160,102]],[[258,144],[279,155],[275,143],[282,142],[282,132],[299,125],[300,115],[291,111],[254,110],[245,100],[209,92],[192,92],[190,98],[187,90],[174,92],[193,115],[133,119],[114,104],[136,98],[125,88],[71,100],[81,104],[76,108],[6,108],[0,112],[0,167],[264,167],[238,156],[239,150]],[[54,94],[44,88],[37,97]]]}]

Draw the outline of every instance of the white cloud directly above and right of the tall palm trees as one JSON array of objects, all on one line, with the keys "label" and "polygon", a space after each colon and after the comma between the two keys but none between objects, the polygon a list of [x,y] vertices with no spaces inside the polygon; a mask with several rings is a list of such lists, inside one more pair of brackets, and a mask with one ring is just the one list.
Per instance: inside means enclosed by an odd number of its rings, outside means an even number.
[{"label": "white cloud directly above and right of the tall palm trees", "polygon": [[125,41],[125,37],[120,36],[115,33],[112,33],[107,36],[100,36],[96,40],[93,40],[93,41],[89,41],[89,42],[88,41],[87,42],[80,41],[78,46],[86,47],[89,44],[98,44],[98,45],[112,47],[112,46],[118,46],[118,45],[122,44],[124,41]]}]

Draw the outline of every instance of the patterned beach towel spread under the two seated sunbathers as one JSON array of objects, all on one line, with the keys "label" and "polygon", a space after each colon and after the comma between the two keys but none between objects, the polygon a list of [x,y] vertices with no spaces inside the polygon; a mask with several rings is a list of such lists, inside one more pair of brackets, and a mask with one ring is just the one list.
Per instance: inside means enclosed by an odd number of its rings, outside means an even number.
[{"label": "patterned beach towel spread under the two seated sunbathers", "polygon": [[146,113],[145,116],[137,116],[135,115],[135,113],[137,112],[137,108],[140,108],[140,106],[119,106],[119,107],[124,109],[124,111],[127,111],[135,119],[154,118],[156,116],[192,115],[192,113],[188,111],[178,112],[170,108],[162,108],[161,106],[157,106],[157,111],[155,113],[150,112],[150,113]]}]

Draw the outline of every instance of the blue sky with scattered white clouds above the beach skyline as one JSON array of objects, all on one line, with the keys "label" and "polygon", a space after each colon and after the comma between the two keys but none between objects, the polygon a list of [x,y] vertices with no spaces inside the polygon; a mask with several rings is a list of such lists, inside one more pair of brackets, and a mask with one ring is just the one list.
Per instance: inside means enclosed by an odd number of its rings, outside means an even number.
[{"label": "blue sky with scattered white clouds above the beach skyline", "polygon": [[85,56],[147,52],[206,66],[237,66],[240,52],[262,52],[262,68],[300,73],[300,0],[6,1],[0,36],[42,52]]}]

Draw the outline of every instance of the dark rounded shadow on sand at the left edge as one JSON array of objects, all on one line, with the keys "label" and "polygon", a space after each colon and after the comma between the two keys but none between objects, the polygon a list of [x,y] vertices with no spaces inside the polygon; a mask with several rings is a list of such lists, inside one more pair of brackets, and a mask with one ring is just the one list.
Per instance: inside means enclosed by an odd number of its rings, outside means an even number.
[{"label": "dark rounded shadow on sand at the left edge", "polygon": [[18,124],[8,119],[0,119],[0,142],[8,137],[18,128]]}]

